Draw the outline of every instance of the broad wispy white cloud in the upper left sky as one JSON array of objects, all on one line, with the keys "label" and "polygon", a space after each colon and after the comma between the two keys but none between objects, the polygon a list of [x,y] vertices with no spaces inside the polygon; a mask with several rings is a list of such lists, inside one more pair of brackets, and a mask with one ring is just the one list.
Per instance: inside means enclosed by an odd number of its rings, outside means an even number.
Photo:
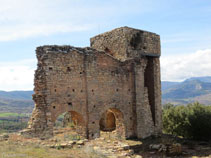
[{"label": "broad wispy white cloud in the upper left sky", "polygon": [[76,16],[65,11],[65,7],[61,10],[58,0],[0,0],[0,3],[0,41],[84,31],[93,27],[88,23],[77,24]]}]

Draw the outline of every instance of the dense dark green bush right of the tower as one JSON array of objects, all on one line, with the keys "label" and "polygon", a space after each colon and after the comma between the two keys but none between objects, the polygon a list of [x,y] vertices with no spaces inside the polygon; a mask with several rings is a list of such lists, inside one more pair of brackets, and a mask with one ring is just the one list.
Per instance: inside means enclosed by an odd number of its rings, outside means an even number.
[{"label": "dense dark green bush right of the tower", "polygon": [[197,140],[211,140],[211,106],[163,106],[163,132]]}]

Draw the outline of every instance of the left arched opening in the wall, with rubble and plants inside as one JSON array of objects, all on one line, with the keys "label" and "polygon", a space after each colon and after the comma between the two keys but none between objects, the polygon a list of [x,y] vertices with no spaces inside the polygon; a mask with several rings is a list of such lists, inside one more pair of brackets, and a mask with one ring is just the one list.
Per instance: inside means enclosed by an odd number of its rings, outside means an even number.
[{"label": "left arched opening in the wall, with rubble and plants inside", "polygon": [[83,116],[76,111],[62,113],[55,120],[54,133],[84,137],[86,135],[86,126]]}]

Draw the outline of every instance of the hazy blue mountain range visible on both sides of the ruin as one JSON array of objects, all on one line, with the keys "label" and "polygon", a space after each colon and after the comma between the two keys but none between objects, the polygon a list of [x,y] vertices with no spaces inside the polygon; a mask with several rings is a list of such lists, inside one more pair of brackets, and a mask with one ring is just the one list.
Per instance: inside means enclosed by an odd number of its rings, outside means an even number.
[{"label": "hazy blue mountain range visible on both sides of the ruin", "polygon": [[[198,101],[211,105],[211,76],[192,77],[183,82],[162,81],[162,104]],[[33,91],[0,91],[0,112],[31,113]]]}]

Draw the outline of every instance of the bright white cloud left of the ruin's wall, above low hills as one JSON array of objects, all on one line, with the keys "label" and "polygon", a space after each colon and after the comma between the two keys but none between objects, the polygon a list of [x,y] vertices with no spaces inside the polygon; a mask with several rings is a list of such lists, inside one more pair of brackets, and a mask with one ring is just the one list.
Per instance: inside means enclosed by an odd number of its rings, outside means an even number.
[{"label": "bright white cloud left of the ruin's wall, above low hills", "polygon": [[0,90],[33,90],[36,60],[0,63]]}]

